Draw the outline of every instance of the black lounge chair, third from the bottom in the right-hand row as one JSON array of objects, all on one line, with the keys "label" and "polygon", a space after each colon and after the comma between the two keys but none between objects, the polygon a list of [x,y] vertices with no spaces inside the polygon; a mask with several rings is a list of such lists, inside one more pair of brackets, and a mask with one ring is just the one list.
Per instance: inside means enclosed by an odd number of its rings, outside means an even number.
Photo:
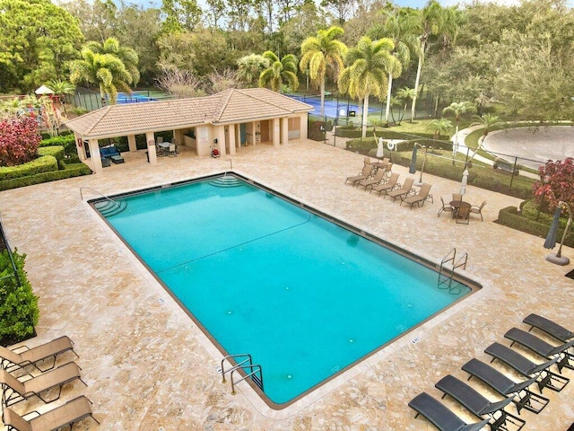
[{"label": "black lounge chair, third from the bottom in the right-hand row", "polygon": [[491,365],[484,364],[478,359],[471,359],[462,366],[462,369],[470,374],[468,380],[476,377],[483,383],[488,384],[494,391],[499,392],[500,395],[505,397],[514,395],[515,399],[513,402],[517,407],[518,414],[520,414],[521,409],[538,414],[548,405],[549,400],[547,398],[528,389],[532,384],[536,383],[538,376],[516,383],[500,373],[499,370],[492,368]]}]

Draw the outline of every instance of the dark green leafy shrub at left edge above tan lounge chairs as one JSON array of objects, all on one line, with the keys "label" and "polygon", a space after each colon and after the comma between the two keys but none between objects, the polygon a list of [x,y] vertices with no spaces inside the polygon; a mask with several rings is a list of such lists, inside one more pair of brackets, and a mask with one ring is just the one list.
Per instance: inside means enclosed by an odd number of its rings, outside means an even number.
[{"label": "dark green leafy shrub at left edge above tan lounge chairs", "polygon": [[38,324],[38,296],[33,294],[24,271],[25,259],[25,254],[13,252],[14,274],[8,251],[0,253],[0,344],[3,346],[29,338]]}]

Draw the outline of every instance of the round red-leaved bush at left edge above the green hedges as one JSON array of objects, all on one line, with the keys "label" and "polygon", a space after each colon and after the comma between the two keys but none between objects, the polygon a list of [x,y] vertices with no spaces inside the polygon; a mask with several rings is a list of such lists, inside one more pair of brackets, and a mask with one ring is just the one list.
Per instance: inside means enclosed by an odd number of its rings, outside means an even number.
[{"label": "round red-leaved bush at left edge above the green hedges", "polygon": [[0,122],[0,166],[14,166],[36,158],[41,136],[38,122],[30,117]]}]

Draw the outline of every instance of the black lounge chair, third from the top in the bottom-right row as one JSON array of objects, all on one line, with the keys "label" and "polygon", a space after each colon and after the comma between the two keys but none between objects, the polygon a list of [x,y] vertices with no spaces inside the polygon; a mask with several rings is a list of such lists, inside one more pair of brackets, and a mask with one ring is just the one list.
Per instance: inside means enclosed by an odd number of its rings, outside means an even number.
[{"label": "black lounge chair, third from the top in the bottom-right row", "polygon": [[484,353],[492,356],[491,363],[495,359],[514,368],[518,373],[526,375],[527,377],[537,376],[536,383],[538,389],[542,392],[544,388],[552,391],[561,391],[566,386],[570,379],[558,374],[552,373],[549,368],[558,362],[559,356],[555,356],[550,361],[544,364],[535,364],[525,356],[520,355],[517,351],[512,350],[510,347],[501,345],[500,343],[493,343],[491,346],[486,347]]}]

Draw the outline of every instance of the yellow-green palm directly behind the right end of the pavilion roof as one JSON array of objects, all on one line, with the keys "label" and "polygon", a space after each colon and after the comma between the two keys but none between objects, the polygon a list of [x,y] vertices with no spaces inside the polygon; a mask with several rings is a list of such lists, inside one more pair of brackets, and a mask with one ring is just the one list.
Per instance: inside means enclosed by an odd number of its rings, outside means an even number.
[{"label": "yellow-green palm directly behind the right end of the pavilion roof", "polygon": [[317,31],[317,36],[312,36],[301,43],[301,72],[309,69],[311,80],[319,85],[321,92],[320,116],[325,114],[325,77],[327,68],[331,68],[335,81],[340,70],[343,70],[343,57],[347,53],[347,46],[336,40],[343,35],[341,27],[332,26],[327,30]]}]

